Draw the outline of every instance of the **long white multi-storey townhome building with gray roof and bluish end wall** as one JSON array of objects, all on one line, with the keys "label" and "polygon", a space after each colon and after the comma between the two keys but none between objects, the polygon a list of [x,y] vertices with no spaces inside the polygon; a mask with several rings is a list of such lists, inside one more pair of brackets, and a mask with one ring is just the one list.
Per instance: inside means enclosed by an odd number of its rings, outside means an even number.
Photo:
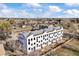
[{"label": "long white multi-storey townhome building with gray roof and bluish end wall", "polygon": [[63,27],[48,27],[41,30],[19,33],[18,40],[27,53],[44,48],[62,40]]}]

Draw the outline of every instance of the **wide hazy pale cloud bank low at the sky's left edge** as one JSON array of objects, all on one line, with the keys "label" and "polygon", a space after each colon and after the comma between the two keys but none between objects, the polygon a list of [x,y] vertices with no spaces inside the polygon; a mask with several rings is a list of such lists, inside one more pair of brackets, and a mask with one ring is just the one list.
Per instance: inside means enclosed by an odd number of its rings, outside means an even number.
[{"label": "wide hazy pale cloud bank low at the sky's left edge", "polygon": [[28,13],[26,10],[15,10],[15,9],[2,9],[0,10],[0,17],[8,18],[31,18],[34,17],[33,14]]}]

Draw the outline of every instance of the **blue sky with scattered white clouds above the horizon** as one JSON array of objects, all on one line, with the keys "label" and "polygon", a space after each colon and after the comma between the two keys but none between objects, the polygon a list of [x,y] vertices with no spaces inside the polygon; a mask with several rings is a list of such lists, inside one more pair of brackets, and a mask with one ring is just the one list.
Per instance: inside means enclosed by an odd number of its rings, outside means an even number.
[{"label": "blue sky with scattered white clouds above the horizon", "polygon": [[0,3],[4,18],[79,18],[79,3]]}]

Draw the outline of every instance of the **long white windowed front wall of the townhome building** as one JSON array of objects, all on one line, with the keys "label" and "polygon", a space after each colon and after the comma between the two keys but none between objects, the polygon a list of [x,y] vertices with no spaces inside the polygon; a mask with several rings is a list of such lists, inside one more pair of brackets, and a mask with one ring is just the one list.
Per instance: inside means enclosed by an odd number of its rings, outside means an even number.
[{"label": "long white windowed front wall of the townhome building", "polygon": [[[52,34],[50,34],[50,33],[52,33]],[[47,34],[48,34],[48,36],[47,36]],[[27,38],[27,52],[30,53],[30,52],[34,51],[34,49],[33,49],[34,47],[35,47],[35,50],[38,50],[38,49],[41,49],[42,47],[45,47],[45,46],[51,44],[52,42],[53,43],[56,42],[56,40],[59,41],[62,39],[62,36],[63,36],[63,28],[61,28],[60,30],[54,30],[51,32],[44,32],[44,33],[36,35],[36,36],[31,35]],[[38,37],[38,42],[37,42],[37,37]],[[31,41],[31,38],[32,38],[32,41]],[[35,40],[34,40],[34,38],[35,38]],[[28,39],[30,39],[30,45],[28,44]],[[41,42],[41,40],[42,40],[42,42]],[[31,44],[33,44],[33,45],[31,45]],[[37,47],[37,44],[38,44],[38,47]],[[41,47],[41,45],[42,45],[42,47]],[[29,50],[29,47],[30,47],[30,50]]]}]

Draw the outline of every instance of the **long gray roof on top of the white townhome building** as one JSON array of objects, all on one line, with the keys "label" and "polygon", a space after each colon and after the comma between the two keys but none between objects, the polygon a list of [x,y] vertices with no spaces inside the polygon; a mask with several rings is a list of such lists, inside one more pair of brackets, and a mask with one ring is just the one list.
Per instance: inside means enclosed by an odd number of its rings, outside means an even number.
[{"label": "long gray roof on top of the white townhome building", "polygon": [[39,34],[42,34],[43,32],[50,32],[50,31],[54,31],[54,30],[59,30],[60,28],[62,27],[49,27],[49,28],[46,28],[46,29],[41,29],[41,30],[35,30],[35,31],[29,31],[29,32],[23,32],[23,35],[25,37],[28,37],[30,35],[39,35]]}]

